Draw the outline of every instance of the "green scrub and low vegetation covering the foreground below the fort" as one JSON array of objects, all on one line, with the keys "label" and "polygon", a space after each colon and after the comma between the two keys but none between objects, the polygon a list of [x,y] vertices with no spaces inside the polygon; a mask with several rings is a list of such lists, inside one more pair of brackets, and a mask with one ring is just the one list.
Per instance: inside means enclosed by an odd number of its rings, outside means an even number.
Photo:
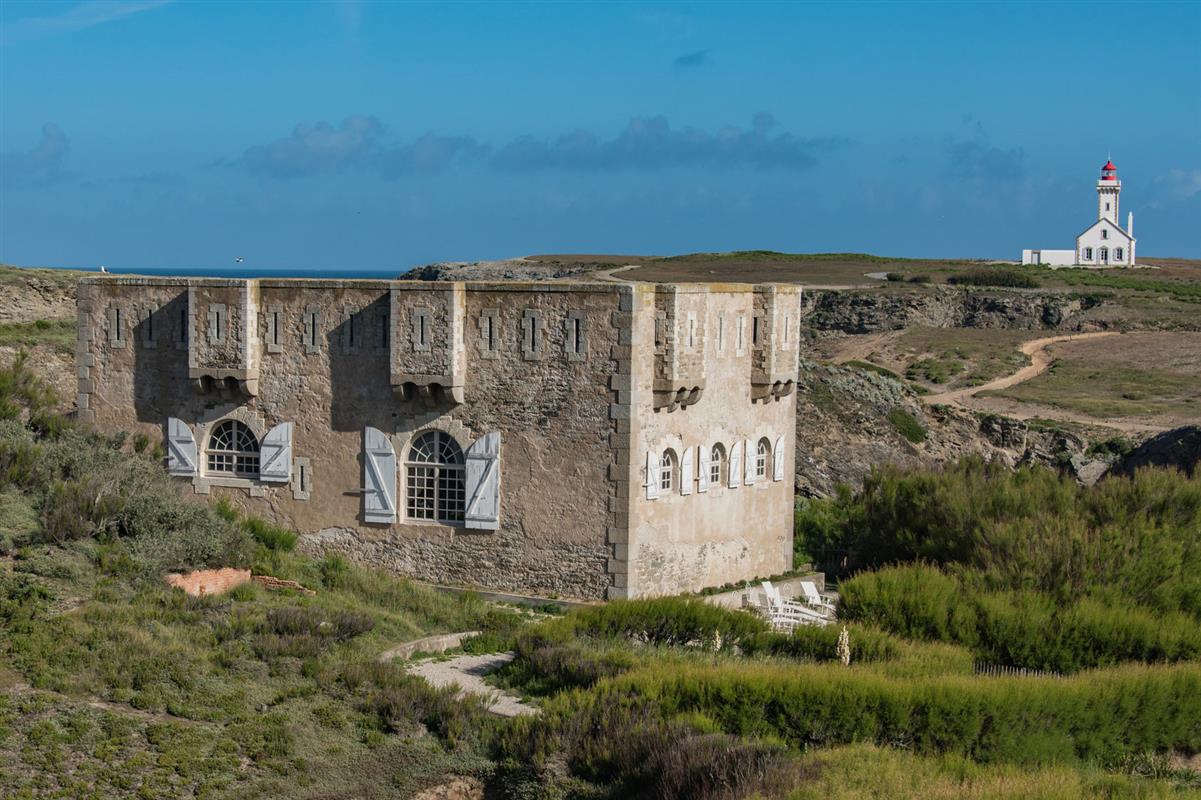
[{"label": "green scrub and low vegetation covering the foreground below the fort", "polygon": [[[161,453],[54,414],[0,371],[0,794],[506,800],[1169,798],[1201,789],[1201,477],[1080,489],[979,461],[877,471],[797,512],[843,625],[769,629],[700,598],[531,622],[295,550],[162,477]],[[1191,531],[1191,535],[1190,535]],[[165,569],[250,566],[315,595],[189,597]],[[382,663],[479,629],[502,720]],[[1035,635],[1039,634],[1039,635]],[[981,662],[1062,675],[994,677]]]}]

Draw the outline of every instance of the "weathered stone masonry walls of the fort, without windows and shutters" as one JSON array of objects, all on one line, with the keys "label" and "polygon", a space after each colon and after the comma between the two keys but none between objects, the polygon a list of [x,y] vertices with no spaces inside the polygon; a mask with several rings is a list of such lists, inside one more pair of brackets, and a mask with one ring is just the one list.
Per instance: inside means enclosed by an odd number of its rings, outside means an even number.
[{"label": "weathered stone masonry walls of the fort, without windows and shutters", "polygon": [[[753,288],[680,291],[673,346],[707,381],[691,405],[655,411],[653,285],[89,277],[78,293],[79,413],[151,437],[179,418],[199,447],[199,472],[181,488],[297,529],[306,551],[340,550],[425,580],[603,598],[781,572],[791,470],[782,482],[645,500],[651,448],[783,436],[793,462],[795,394],[749,400],[749,328],[739,348],[735,326],[749,324]],[[228,369],[207,356],[213,304],[226,306],[225,333],[243,345],[233,352],[253,368],[247,380],[190,377],[190,362]],[[399,359],[411,377],[424,375],[416,309],[430,311],[429,344],[444,359],[431,369],[462,375],[461,401],[395,383],[398,348],[417,353]],[[204,448],[225,419],[259,440],[292,423],[291,482],[210,473]],[[388,436],[400,466],[390,525],[364,521],[366,426]],[[428,430],[465,450],[500,434],[498,530],[406,519],[405,461]]]}]

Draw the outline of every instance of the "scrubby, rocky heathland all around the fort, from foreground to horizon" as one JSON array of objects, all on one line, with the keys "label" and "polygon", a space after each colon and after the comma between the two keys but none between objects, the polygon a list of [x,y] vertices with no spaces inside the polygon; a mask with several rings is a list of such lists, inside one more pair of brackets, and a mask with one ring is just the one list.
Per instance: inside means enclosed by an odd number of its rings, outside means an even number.
[{"label": "scrubby, rocky heathland all around the fort, from foreground to horizon", "polygon": [[[795,565],[826,573],[838,625],[698,597],[531,611],[301,555],[180,495],[159,443],[73,423],[72,381],[50,386],[74,375],[72,277],[4,268],[0,795],[1201,796],[1201,454],[1077,479],[1196,424],[1201,265],[590,258],[530,261],[867,287],[808,293],[799,392]],[[925,400],[1081,333],[1113,335]],[[227,566],[307,591],[162,579]],[[488,680],[536,716],[381,661],[461,631],[514,655]]]}]

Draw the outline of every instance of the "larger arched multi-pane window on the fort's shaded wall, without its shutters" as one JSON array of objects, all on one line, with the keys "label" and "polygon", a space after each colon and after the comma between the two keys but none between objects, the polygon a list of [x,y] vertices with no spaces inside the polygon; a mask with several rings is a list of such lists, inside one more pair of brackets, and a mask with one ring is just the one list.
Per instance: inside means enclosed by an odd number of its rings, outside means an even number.
[{"label": "larger arched multi-pane window on the fort's shaded wall, without its shutters", "polygon": [[441,430],[413,440],[405,461],[410,519],[461,523],[466,503],[462,448]]}]

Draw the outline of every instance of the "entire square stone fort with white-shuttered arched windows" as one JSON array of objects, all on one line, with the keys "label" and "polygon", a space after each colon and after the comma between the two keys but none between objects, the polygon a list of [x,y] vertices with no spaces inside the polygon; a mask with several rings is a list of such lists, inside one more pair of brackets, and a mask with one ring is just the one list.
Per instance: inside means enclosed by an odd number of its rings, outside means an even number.
[{"label": "entire square stone fort with white-shuttered arched windows", "polygon": [[418,579],[674,593],[791,566],[801,289],[83,279],[78,414]]}]

